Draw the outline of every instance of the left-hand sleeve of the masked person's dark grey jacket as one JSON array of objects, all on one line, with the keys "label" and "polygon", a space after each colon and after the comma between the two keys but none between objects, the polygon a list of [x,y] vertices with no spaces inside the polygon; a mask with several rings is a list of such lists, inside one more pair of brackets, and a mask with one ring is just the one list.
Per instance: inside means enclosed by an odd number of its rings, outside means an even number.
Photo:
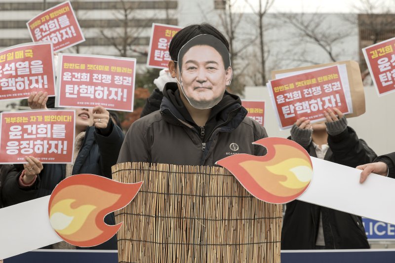
[{"label": "left-hand sleeve of the masked person's dark grey jacket", "polygon": [[130,126],[119,152],[117,163],[151,162],[151,154],[147,142],[147,131],[143,129],[139,119]]}]

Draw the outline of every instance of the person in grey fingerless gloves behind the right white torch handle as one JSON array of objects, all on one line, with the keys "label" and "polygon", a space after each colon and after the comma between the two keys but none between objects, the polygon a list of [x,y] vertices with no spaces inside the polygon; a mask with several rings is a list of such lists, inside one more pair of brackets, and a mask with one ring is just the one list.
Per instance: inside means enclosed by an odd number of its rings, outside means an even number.
[{"label": "person in grey fingerless gloves behind the right white torch handle", "polygon": [[[290,139],[311,156],[356,167],[371,162],[376,153],[356,132],[338,109],[324,112],[326,122],[311,124],[298,119]],[[333,194],[336,194],[334,192]],[[286,204],[281,232],[281,249],[367,249],[369,243],[360,217],[294,200]]]}]

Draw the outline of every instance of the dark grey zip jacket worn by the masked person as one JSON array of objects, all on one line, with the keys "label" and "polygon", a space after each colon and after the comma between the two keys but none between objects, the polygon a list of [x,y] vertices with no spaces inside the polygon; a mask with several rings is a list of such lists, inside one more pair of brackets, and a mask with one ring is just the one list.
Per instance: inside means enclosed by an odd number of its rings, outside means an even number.
[{"label": "dark grey zip jacket worn by the masked person", "polygon": [[[164,92],[170,89],[167,84]],[[173,91],[177,89],[175,83],[170,86]],[[264,155],[266,149],[252,142],[267,137],[265,128],[246,117],[247,111],[240,105],[237,96],[225,93],[224,98],[230,103],[229,107],[224,107],[213,117],[215,123],[211,131],[206,129],[202,138],[196,124],[187,121],[178,110],[180,108],[163,97],[160,111],[146,115],[130,126],[119,152],[118,163],[213,166],[230,154]],[[185,106],[181,110],[186,111]],[[237,147],[231,150],[231,144]]]}]

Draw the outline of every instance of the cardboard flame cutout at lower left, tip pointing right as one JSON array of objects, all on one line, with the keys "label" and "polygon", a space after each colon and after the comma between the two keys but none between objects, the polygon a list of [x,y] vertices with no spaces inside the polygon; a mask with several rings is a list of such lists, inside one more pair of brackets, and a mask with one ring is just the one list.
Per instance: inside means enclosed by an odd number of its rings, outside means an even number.
[{"label": "cardboard flame cutout at lower left, tip pointing right", "polygon": [[79,247],[97,246],[114,236],[122,225],[107,225],[104,217],[125,207],[142,184],[123,184],[91,174],[70,176],[51,194],[49,221],[66,242]]}]

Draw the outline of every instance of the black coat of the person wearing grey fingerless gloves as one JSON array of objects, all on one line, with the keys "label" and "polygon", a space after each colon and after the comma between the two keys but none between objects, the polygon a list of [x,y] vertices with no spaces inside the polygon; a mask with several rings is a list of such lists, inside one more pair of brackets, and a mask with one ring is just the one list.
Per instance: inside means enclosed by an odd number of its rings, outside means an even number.
[{"label": "black coat of the person wearing grey fingerless gloves", "polygon": [[[355,168],[376,158],[375,152],[363,140],[358,139],[356,132],[350,127],[339,135],[329,135],[328,145],[329,149],[324,159],[331,162]],[[313,143],[306,150],[311,156],[316,157]],[[320,212],[326,249],[369,248],[359,216],[294,200],[286,205],[281,249],[315,249]]]}]

